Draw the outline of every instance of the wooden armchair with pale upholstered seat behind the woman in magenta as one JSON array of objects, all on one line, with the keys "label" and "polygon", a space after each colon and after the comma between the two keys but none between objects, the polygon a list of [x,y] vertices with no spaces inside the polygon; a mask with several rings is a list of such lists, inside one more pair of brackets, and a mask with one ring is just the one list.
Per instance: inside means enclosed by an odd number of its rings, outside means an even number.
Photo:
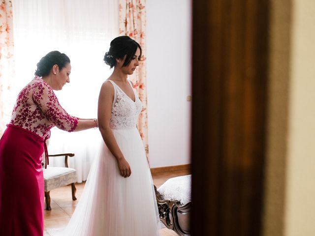
[{"label": "wooden armchair with pale upholstered seat behind the woman in magenta", "polygon": [[[50,207],[50,195],[49,192],[55,188],[63,187],[65,185],[71,184],[72,190],[72,200],[77,200],[75,197],[76,188],[74,183],[76,182],[76,170],[68,167],[68,156],[74,156],[73,153],[62,153],[55,155],[48,155],[49,157],[54,156],[64,156],[64,166],[65,167],[50,167],[47,169],[43,168],[44,174],[44,191],[45,191],[45,201],[46,210],[51,210]],[[43,165],[44,163],[42,163]]]}]

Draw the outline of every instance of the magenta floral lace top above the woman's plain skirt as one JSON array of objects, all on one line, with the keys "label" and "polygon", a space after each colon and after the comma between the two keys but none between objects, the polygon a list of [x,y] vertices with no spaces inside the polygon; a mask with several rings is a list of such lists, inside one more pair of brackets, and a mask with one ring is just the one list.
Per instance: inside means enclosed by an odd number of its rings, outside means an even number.
[{"label": "magenta floral lace top above the woman's plain skirt", "polygon": [[10,120],[10,124],[30,130],[42,138],[54,126],[71,132],[77,123],[77,118],[62,108],[53,89],[38,76],[19,93]]}]

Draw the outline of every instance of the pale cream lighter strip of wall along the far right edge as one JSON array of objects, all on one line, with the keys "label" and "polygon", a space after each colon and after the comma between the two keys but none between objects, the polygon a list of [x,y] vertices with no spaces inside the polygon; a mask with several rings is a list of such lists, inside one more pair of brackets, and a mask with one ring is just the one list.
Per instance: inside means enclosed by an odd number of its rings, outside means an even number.
[{"label": "pale cream lighter strip of wall along the far right edge", "polygon": [[315,1],[292,1],[286,236],[315,236]]}]

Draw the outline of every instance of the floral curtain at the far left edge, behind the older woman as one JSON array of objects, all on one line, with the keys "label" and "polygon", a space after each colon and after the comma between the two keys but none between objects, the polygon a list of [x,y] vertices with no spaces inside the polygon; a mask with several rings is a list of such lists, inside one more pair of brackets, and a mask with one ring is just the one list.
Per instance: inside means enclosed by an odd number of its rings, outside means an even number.
[{"label": "floral curtain at the far left edge, behind the older woman", "polygon": [[12,1],[0,1],[0,136],[12,111],[10,97],[13,65],[13,13]]}]

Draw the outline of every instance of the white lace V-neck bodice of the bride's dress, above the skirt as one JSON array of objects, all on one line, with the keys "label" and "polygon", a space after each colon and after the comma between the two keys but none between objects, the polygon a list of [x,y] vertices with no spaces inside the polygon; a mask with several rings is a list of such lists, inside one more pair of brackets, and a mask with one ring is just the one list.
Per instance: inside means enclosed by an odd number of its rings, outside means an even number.
[{"label": "white lace V-neck bodice of the bride's dress, above the skirt", "polygon": [[142,110],[142,102],[134,91],[135,101],[132,101],[115,82],[109,81],[112,83],[115,90],[110,127],[112,129],[129,129],[136,127],[138,115]]}]

